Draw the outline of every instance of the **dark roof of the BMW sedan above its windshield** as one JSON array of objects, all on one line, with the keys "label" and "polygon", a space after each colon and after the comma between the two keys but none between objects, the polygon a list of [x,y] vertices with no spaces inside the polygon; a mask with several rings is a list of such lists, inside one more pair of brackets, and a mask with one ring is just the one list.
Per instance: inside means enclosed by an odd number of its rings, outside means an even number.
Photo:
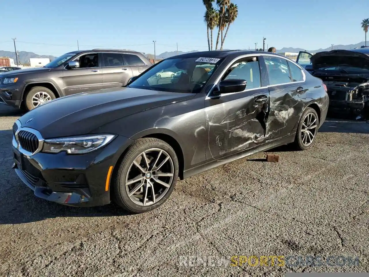
[{"label": "dark roof of the BMW sedan above its windshield", "polygon": [[[173,56],[170,58],[194,58],[194,57],[206,57],[206,58],[224,58],[224,57],[232,57],[236,58],[241,55],[248,54],[271,54],[280,56],[279,54],[265,51],[252,51],[252,50],[215,50],[215,51],[200,51],[200,52],[191,52],[178,56]],[[283,56],[282,56],[283,57]]]}]

